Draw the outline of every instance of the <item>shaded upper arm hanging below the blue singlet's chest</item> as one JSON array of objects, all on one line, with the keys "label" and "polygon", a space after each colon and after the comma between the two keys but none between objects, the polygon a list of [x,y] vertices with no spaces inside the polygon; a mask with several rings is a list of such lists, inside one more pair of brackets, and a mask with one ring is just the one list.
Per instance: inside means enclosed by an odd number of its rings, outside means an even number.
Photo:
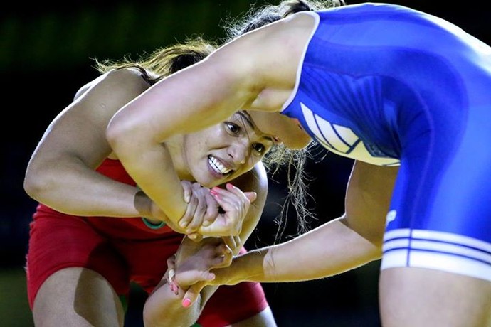
[{"label": "shaded upper arm hanging below the blue singlet's chest", "polygon": [[381,245],[387,210],[398,167],[355,161],[349,177],[344,223],[377,246]]}]

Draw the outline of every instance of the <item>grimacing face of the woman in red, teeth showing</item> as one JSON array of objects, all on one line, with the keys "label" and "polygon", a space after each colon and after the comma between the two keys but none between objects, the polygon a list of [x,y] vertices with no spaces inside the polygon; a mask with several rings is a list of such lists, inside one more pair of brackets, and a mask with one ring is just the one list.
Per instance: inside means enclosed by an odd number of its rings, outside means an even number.
[{"label": "grimacing face of the woman in red, teeth showing", "polygon": [[189,178],[213,187],[250,171],[273,141],[241,111],[223,123],[184,135],[181,158]]}]

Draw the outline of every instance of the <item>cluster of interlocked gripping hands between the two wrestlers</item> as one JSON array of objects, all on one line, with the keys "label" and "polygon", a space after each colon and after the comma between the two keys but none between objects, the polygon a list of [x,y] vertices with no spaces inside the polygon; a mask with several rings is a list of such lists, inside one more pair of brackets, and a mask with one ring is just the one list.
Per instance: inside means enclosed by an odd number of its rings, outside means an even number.
[{"label": "cluster of interlocked gripping hands between the two wrestlers", "polygon": [[182,305],[187,307],[213,283],[211,269],[228,267],[241,250],[239,234],[256,193],[244,193],[231,183],[211,190],[187,181],[182,185],[188,207],[179,226],[186,228],[188,237],[167,259],[165,278],[174,294],[184,291]]}]

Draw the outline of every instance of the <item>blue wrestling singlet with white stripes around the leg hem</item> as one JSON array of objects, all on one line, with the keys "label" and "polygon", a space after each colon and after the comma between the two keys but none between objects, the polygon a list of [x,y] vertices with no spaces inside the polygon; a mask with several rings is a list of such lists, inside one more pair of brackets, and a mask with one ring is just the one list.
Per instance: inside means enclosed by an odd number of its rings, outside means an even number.
[{"label": "blue wrestling singlet with white stripes around the leg hem", "polygon": [[399,166],[381,269],[491,281],[491,48],[390,4],[317,12],[283,114],[330,151]]}]

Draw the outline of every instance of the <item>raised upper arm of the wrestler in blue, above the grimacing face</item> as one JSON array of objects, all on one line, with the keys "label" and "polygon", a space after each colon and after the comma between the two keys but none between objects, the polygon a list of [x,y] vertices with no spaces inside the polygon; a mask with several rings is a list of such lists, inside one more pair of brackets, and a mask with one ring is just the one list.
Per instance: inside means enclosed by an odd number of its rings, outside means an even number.
[{"label": "raised upper arm of the wrestler in blue, above the grimacing face", "polygon": [[[256,41],[241,37],[223,45],[199,63],[160,80],[125,106],[107,127],[107,138],[115,151],[132,151],[123,145],[128,133],[141,136],[132,139],[134,147],[160,144],[176,134],[223,122],[237,110],[250,107],[268,78],[263,68],[273,61],[272,55],[265,58],[270,45]],[[142,130],[146,134],[139,132]]]}]

